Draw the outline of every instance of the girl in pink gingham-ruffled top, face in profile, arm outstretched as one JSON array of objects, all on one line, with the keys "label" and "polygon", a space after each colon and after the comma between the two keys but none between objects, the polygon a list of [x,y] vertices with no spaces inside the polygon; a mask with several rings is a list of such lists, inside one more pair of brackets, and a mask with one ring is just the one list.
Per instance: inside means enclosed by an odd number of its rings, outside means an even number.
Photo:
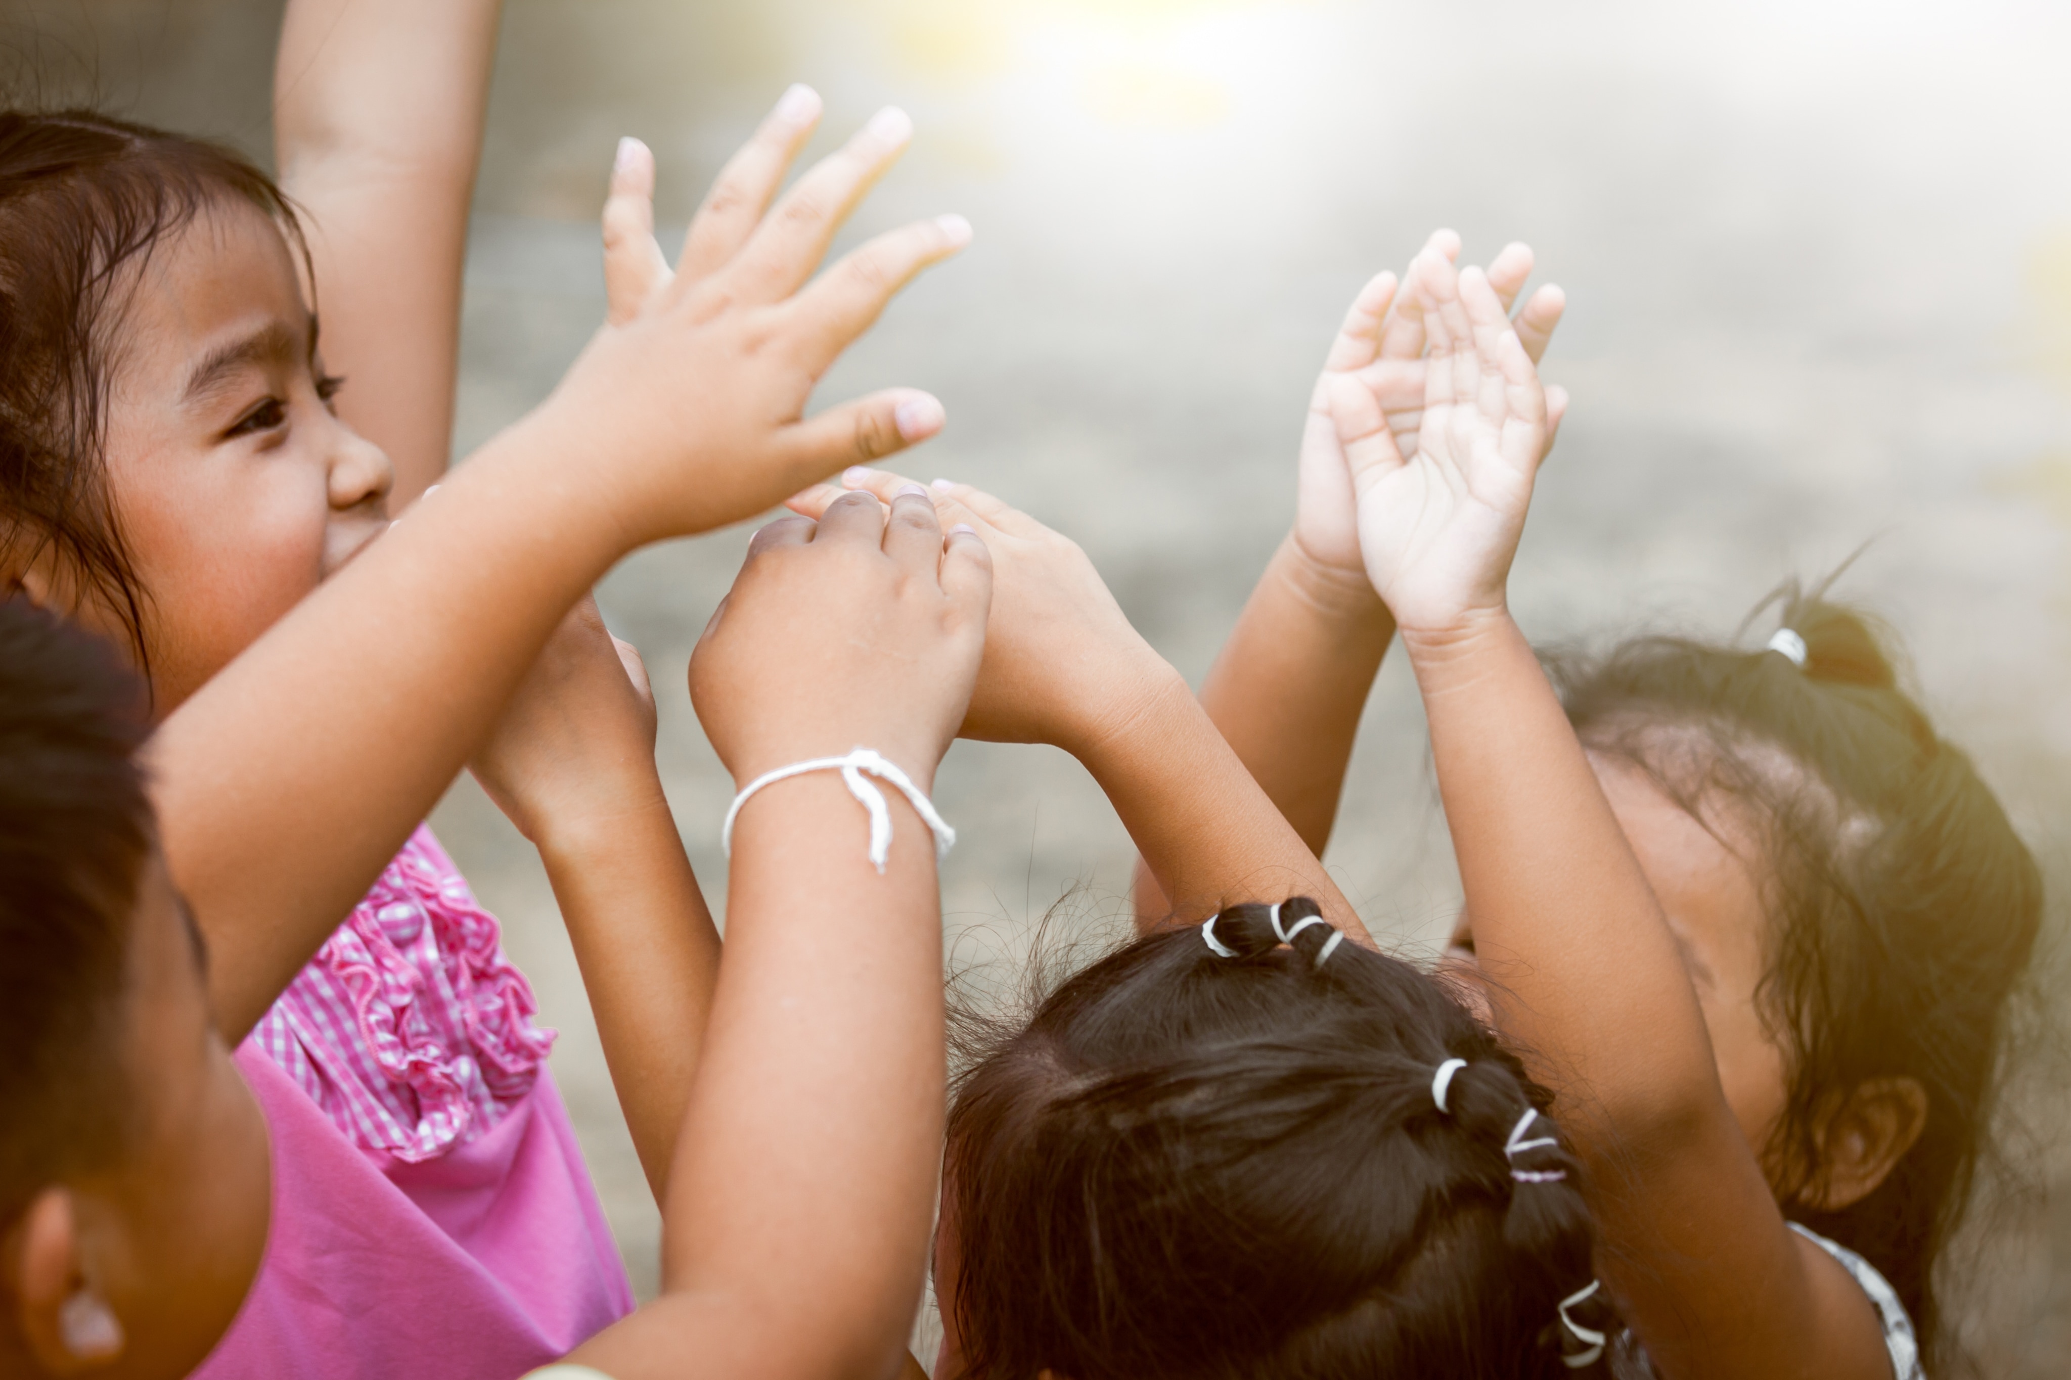
[{"label": "girl in pink gingham-ruffled top, face in profile, arm outstretched", "polygon": [[[416,41],[416,29],[400,33]],[[522,571],[505,571],[491,600],[503,614],[491,660],[456,664],[451,650],[402,627],[406,610],[449,610],[466,586],[433,563],[420,583],[375,581],[371,602],[333,608],[346,623],[385,617],[385,637],[362,639],[356,662],[325,662],[309,648],[253,652],[246,660],[265,670],[213,699],[209,677],[244,641],[319,577],[373,554],[385,459],[323,406],[315,323],[282,232],[292,221],[249,166],[91,116],[8,116],[0,130],[0,252],[10,257],[10,356],[0,372],[23,385],[0,434],[12,482],[8,577],[116,631],[149,666],[153,706],[180,706],[153,745],[155,788],[166,852],[211,941],[226,1034],[240,1039],[284,989],[317,979],[273,1030],[282,1061],[255,1045],[240,1061],[275,1126],[292,1123],[284,1167],[307,1171],[296,1183],[336,1206],[329,1217],[323,1202],[311,1208],[327,1235],[275,1235],[271,1283],[220,1357],[226,1368],[278,1374],[296,1357],[294,1368],[389,1374],[431,1357],[509,1374],[628,1306],[565,1113],[538,1078],[543,1041],[528,1030],[522,981],[435,844],[418,838],[333,937],[338,962],[298,970],[483,741],[489,712],[524,668],[509,658],[530,658],[611,559],[640,540],[733,521],[843,457],[940,424],[940,408],[911,391],[785,422],[888,294],[965,234],[959,223],[909,228],[793,296],[833,226],[905,139],[903,120],[880,120],[799,184],[781,228],[758,230],[814,110],[810,93],[791,97],[729,168],[694,228],[694,271],[615,312],[555,401],[489,447],[518,459],[449,484],[478,490],[522,474],[551,499],[499,532]],[[712,294],[731,294],[727,310],[712,314]],[[708,319],[688,323],[692,308]],[[741,362],[750,335],[762,354]],[[721,461],[700,474],[696,497],[679,488],[686,453]],[[750,455],[754,463],[741,463]],[[526,470],[534,457],[553,466]],[[661,478],[671,466],[679,474]],[[638,484],[607,482],[613,474],[646,474],[661,488],[628,501]],[[462,526],[495,509],[456,503],[468,509],[454,515]],[[570,546],[565,534],[586,515],[607,523],[615,548]],[[429,511],[381,546],[416,546],[408,528],[420,523]],[[478,569],[491,567],[501,569]],[[528,588],[545,602],[526,602]],[[344,637],[342,625],[331,637]],[[319,664],[329,679],[309,679]],[[354,724],[336,712],[336,681],[375,666],[383,712]],[[278,755],[261,757],[265,770],[240,759],[226,774],[224,743],[267,739],[269,726],[282,730]],[[311,755],[317,770],[288,770],[309,768]],[[646,780],[634,772],[628,782],[652,826],[646,836],[673,836],[665,817],[652,821],[661,797],[650,784],[648,761]],[[526,813],[526,782],[505,786],[499,794]],[[340,834],[331,797],[354,790],[379,809],[348,815],[354,823]],[[311,797],[325,797],[325,809]],[[663,894],[696,904],[683,898],[688,869],[657,879]],[[696,948],[696,937],[677,943]],[[623,1078],[630,1066],[613,1057],[613,1068]],[[632,1119],[642,1136],[638,1107]],[[642,1152],[659,1183],[667,1154],[652,1154],[652,1140]],[[354,1212],[338,1210],[346,1202]],[[338,1258],[389,1264],[385,1274],[344,1270]],[[375,1312],[391,1326],[364,1330],[360,1320]]]}]

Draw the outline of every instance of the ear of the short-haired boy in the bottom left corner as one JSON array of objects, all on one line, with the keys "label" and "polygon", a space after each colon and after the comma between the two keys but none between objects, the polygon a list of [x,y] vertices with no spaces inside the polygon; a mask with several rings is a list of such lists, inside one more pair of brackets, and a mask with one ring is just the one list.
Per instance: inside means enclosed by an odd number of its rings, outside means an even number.
[{"label": "ear of the short-haired boy in the bottom left corner", "polygon": [[6,1291],[14,1326],[37,1366],[79,1376],[122,1355],[122,1324],[87,1283],[72,1194],[46,1188],[6,1235]]}]

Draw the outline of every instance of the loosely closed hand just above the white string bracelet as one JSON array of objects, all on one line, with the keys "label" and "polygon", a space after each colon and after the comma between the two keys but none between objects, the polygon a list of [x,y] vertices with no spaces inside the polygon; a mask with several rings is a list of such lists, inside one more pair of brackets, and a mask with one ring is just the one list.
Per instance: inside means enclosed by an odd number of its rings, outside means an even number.
[{"label": "loosely closed hand just above the white string bracelet", "polygon": [[853,492],[748,546],[690,658],[690,699],[737,784],[868,747],[922,790],[978,679],[992,559],[934,505]]}]

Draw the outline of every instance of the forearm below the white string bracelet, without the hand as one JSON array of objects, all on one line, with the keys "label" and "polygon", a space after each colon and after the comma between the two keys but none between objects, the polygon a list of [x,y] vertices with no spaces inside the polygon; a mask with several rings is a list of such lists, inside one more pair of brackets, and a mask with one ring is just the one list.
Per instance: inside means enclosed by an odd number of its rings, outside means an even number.
[{"label": "forearm below the white string bracelet, without the hand", "polygon": [[928,1260],[944,1032],[934,846],[886,797],[884,875],[833,772],[779,782],[741,813],[663,1299],[572,1361],[619,1380],[895,1372]]}]

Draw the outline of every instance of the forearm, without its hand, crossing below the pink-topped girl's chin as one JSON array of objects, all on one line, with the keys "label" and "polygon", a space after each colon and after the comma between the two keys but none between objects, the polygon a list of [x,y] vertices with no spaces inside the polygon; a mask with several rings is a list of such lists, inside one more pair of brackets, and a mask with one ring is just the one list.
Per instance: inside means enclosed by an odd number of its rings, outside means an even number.
[{"label": "forearm, without its hand, crossing below the pink-topped girl's chin", "polygon": [[[561,614],[630,544],[570,455],[582,445],[545,416],[503,432],[153,734],[166,859],[209,939],[232,1043],[381,875]],[[342,695],[342,679],[364,691]]]}]

